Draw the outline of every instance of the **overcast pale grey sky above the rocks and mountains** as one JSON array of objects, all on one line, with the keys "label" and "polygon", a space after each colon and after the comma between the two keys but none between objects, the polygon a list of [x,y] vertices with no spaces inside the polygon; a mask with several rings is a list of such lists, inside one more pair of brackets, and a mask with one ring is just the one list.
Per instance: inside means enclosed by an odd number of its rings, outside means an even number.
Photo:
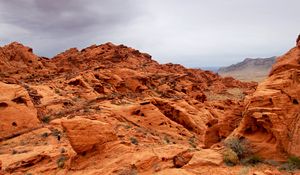
[{"label": "overcast pale grey sky above the rocks and mountains", "polygon": [[0,0],[0,45],[40,56],[113,42],[187,67],[280,56],[300,33],[300,0]]}]

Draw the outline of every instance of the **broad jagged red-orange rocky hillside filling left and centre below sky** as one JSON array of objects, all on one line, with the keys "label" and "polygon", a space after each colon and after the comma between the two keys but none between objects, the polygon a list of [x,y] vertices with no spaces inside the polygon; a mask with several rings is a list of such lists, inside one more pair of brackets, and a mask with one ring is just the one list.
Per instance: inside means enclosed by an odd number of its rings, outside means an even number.
[{"label": "broad jagged red-orange rocky hillside filling left and centre below sky", "polygon": [[[52,59],[19,43],[0,51],[0,89],[7,92],[0,96],[4,174],[241,171],[223,164],[222,141],[232,135],[252,140],[243,127],[254,120],[244,112],[251,103],[244,99],[259,93],[253,94],[256,83],[162,65],[112,43],[72,48]],[[284,70],[279,67],[274,74]]]}]

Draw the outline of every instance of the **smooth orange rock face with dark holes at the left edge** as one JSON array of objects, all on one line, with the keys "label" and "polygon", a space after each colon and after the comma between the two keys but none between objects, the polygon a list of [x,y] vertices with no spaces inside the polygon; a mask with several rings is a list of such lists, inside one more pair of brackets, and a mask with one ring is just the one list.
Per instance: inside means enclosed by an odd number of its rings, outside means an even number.
[{"label": "smooth orange rock face with dark holes at the left edge", "polygon": [[39,126],[37,111],[23,87],[0,82],[0,92],[0,140]]}]

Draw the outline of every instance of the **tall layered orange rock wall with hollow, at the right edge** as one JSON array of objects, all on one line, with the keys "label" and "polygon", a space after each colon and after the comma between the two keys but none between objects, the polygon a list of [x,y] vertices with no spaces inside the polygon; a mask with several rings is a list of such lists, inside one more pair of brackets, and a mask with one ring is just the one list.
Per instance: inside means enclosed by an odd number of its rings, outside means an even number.
[{"label": "tall layered orange rock wall with hollow, at the right edge", "polygon": [[300,48],[280,57],[270,76],[247,99],[236,130],[265,158],[300,156]]}]

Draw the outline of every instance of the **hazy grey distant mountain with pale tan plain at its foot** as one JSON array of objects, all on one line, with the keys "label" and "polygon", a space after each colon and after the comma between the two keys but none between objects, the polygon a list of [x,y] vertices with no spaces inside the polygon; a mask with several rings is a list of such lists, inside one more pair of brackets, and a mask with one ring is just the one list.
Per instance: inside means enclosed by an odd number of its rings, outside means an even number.
[{"label": "hazy grey distant mountain with pale tan plain at its foot", "polygon": [[221,76],[232,76],[241,81],[260,82],[268,76],[275,60],[275,56],[270,58],[246,58],[237,64],[221,67],[217,72]]}]

